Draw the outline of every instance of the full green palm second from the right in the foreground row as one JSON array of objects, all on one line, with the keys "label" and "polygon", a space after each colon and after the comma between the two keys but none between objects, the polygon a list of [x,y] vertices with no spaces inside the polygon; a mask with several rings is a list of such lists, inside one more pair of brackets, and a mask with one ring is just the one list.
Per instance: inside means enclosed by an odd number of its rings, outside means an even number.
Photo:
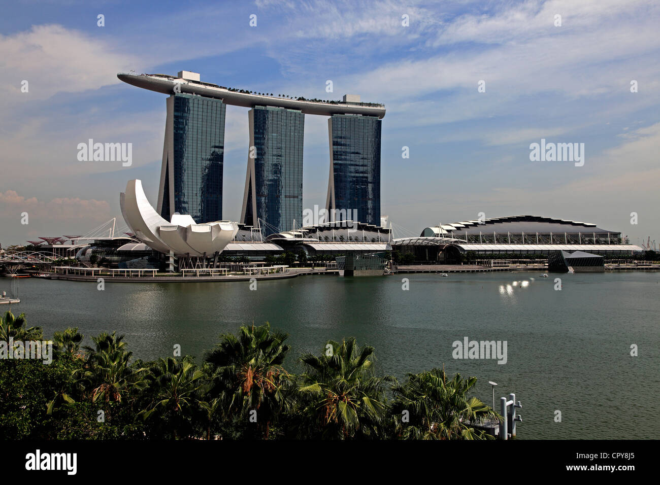
[{"label": "full green palm second from the right in the foreground row", "polygon": [[306,371],[298,376],[300,418],[298,436],[348,439],[382,437],[387,406],[385,383],[376,377],[374,348],[360,348],[354,338],[327,342],[321,356],[300,356]]}]

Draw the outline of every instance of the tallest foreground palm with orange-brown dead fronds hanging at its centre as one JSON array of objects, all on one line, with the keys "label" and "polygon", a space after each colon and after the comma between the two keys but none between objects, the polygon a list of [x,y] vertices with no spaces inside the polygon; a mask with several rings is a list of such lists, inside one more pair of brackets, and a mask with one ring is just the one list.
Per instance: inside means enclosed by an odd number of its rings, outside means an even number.
[{"label": "tallest foreground palm with orange-brown dead fronds hanging at its centre", "polygon": [[215,372],[209,394],[218,397],[224,393],[228,411],[243,417],[258,410],[257,427],[264,430],[266,439],[280,411],[294,403],[288,392],[292,376],[281,365],[290,350],[284,344],[287,338],[286,333],[271,332],[268,322],[260,327],[242,326],[238,337],[222,335],[216,348],[205,354]]}]

